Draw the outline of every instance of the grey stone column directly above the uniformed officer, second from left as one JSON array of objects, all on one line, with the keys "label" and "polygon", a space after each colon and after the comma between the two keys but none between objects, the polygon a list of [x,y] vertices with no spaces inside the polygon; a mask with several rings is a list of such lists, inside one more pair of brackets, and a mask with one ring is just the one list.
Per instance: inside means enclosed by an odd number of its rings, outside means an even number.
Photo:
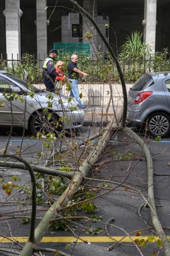
[{"label": "grey stone column directly above the uniformed officer, second from left", "polygon": [[47,13],[46,0],[36,0],[36,37],[37,58],[43,59],[47,54]]}]

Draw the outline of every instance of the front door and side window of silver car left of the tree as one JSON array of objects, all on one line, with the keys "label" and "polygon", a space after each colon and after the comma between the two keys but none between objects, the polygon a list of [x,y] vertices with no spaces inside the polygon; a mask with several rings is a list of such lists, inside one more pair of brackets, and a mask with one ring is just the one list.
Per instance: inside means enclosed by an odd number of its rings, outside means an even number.
[{"label": "front door and side window of silver car left of the tree", "polygon": [[20,99],[11,100],[13,86],[16,85],[0,76],[0,124],[21,125],[23,123],[24,103]]}]

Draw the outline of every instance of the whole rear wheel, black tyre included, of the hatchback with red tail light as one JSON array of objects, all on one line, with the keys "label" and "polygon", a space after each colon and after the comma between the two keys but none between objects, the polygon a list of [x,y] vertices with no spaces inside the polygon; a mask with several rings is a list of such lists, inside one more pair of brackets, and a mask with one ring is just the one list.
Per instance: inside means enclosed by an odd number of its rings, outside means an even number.
[{"label": "whole rear wheel, black tyre included, of the hatchback with red tail light", "polygon": [[170,133],[170,117],[166,113],[156,112],[148,116],[147,128],[153,137],[164,137]]}]

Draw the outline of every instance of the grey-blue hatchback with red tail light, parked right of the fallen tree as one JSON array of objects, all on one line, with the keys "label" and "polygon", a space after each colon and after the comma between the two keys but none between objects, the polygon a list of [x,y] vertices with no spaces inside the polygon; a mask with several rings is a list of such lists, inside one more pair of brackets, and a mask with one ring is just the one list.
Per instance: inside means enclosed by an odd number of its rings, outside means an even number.
[{"label": "grey-blue hatchback with red tail light, parked right of the fallen tree", "polygon": [[128,123],[153,137],[170,133],[170,72],[143,74],[128,91]]}]

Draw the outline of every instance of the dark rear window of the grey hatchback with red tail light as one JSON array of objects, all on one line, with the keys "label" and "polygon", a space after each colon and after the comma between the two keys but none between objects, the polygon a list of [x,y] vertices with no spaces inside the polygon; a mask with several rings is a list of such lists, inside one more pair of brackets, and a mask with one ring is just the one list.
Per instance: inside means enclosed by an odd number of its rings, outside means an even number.
[{"label": "dark rear window of the grey hatchback with red tail light", "polygon": [[152,79],[152,76],[143,75],[134,83],[134,85],[131,87],[131,90],[142,91],[143,89],[146,89],[152,84],[154,84],[154,80]]}]

